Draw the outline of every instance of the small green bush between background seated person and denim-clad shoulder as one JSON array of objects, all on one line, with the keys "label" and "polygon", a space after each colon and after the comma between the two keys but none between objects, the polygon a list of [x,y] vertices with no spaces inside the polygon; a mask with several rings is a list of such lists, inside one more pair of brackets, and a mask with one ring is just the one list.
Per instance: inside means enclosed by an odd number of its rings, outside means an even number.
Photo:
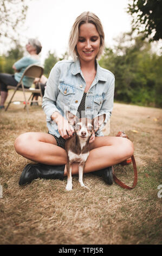
[{"label": "small green bush between background seated person and denim-clad shoulder", "polygon": [[48,57],[44,60],[44,75],[46,77],[49,77],[49,73],[53,66],[56,64],[56,62],[59,59],[55,55],[55,53],[51,53],[50,51],[48,52]]}]

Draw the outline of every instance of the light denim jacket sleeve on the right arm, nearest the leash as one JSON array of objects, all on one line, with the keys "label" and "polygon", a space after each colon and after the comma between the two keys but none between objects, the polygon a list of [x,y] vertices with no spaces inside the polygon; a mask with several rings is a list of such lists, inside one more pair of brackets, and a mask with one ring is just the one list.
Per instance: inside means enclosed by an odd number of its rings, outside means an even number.
[{"label": "light denim jacket sleeve on the right arm, nearest the leash", "polygon": [[105,121],[103,125],[100,127],[97,133],[100,133],[103,129],[103,127],[107,124],[108,120],[111,117],[112,111],[113,111],[113,105],[114,105],[114,89],[115,89],[115,78],[112,77],[112,80],[107,84],[107,92],[105,94],[105,99],[102,102],[102,107],[98,113],[98,116],[101,114],[106,114]]}]

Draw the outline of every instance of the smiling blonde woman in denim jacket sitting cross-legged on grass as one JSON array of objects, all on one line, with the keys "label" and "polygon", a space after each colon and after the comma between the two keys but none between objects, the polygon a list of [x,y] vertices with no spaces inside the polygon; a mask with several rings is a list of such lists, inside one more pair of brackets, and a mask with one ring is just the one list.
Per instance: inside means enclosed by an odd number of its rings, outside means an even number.
[{"label": "smiling blonde woman in denim jacket sitting cross-legged on grass", "polygon": [[[28,132],[15,141],[18,154],[38,162],[24,168],[20,185],[37,178],[63,179],[67,176],[64,144],[66,139],[73,136],[74,127],[68,123],[66,111],[73,115],[79,113],[81,117],[83,113],[90,118],[105,114],[103,126],[111,117],[114,75],[102,69],[97,61],[103,52],[104,38],[98,16],[87,11],[77,17],[69,36],[69,52],[74,60],[56,63],[50,72],[43,97],[48,134]],[[103,180],[112,185],[112,165],[131,157],[133,144],[127,138],[103,136],[102,128],[90,137],[90,153],[84,172],[100,170]],[[77,173],[78,164],[74,163],[72,174]]]}]

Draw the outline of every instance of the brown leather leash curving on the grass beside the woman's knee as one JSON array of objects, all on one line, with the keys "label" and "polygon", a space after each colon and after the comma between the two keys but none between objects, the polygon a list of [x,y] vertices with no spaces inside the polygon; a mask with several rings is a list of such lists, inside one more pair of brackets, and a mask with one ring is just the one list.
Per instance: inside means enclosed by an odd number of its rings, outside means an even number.
[{"label": "brown leather leash curving on the grass beside the woman's knee", "polygon": [[[124,138],[128,138],[128,136],[125,134],[125,132],[118,132],[118,135],[116,135],[117,137],[124,137]],[[126,184],[124,184],[123,182],[121,182],[114,174],[114,170],[113,170],[113,179],[114,179],[114,182],[116,184],[118,184],[119,186],[121,186],[122,188],[127,188],[128,190],[132,190],[132,188],[134,188],[136,185],[137,185],[137,179],[138,179],[138,174],[137,174],[137,166],[136,166],[136,163],[135,163],[135,158],[134,158],[134,155],[132,155],[131,157],[132,159],[132,164],[133,164],[133,170],[134,170],[134,182],[133,182],[133,186],[132,187],[129,187],[127,186]]]}]

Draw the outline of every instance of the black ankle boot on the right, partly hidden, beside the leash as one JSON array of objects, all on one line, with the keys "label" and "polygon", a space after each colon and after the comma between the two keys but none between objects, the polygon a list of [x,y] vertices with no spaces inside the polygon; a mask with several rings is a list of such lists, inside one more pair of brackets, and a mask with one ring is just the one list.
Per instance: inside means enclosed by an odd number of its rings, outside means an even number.
[{"label": "black ankle boot on the right, partly hidden, beside the leash", "polygon": [[93,172],[94,175],[98,175],[103,178],[103,180],[108,184],[112,185],[113,184],[113,167],[109,166],[105,169],[102,170],[96,170]]}]

